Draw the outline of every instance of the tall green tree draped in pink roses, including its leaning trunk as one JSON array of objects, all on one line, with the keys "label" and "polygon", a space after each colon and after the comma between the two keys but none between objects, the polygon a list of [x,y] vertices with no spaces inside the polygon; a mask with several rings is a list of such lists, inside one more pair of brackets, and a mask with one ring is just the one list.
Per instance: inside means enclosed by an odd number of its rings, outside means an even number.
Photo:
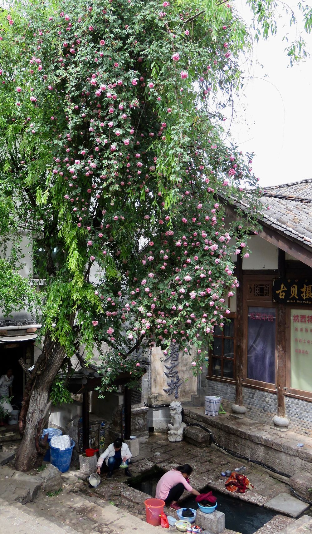
[{"label": "tall green tree draped in pink roses, including its leaning trunk", "polygon": [[[222,328],[238,285],[231,258],[247,255],[259,194],[252,156],[223,141],[239,32],[227,4],[200,0],[2,12],[1,195],[45,253],[43,348],[26,384],[18,469],[43,452],[51,384],[79,347],[90,360],[94,344],[107,346],[107,390],[121,370],[141,375],[135,351],[151,343],[166,354],[176,342],[186,357],[194,346],[198,371]],[[225,199],[242,197],[249,216],[226,222]],[[16,235],[5,236],[14,247]]]}]

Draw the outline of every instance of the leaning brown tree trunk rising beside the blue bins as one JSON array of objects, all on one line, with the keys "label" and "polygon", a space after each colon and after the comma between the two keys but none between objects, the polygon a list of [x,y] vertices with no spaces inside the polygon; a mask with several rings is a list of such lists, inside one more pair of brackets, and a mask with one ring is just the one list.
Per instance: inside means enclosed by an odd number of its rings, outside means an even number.
[{"label": "leaning brown tree trunk rising beside the blue bins", "polygon": [[27,381],[22,402],[19,427],[23,437],[15,457],[15,469],[19,471],[28,471],[42,463],[46,440],[40,442],[49,392],[64,358],[63,347],[46,336],[43,352]]}]

